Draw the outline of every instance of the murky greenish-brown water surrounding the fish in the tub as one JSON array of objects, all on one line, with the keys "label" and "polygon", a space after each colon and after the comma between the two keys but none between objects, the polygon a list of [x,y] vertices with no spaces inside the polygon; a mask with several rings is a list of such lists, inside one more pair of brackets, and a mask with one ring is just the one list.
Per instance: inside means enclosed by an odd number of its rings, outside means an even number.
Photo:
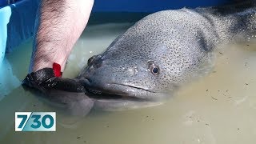
[{"label": "murky greenish-brown water surrounding the fish in the tub", "polygon": [[[131,24],[89,26],[70,55],[64,77],[74,78]],[[249,45],[249,46],[247,46]],[[0,80],[0,143],[255,143],[256,42],[223,46],[214,70],[182,87],[166,104],[75,118],[20,86],[31,41],[7,54]],[[15,111],[57,111],[56,132],[14,132]]]}]

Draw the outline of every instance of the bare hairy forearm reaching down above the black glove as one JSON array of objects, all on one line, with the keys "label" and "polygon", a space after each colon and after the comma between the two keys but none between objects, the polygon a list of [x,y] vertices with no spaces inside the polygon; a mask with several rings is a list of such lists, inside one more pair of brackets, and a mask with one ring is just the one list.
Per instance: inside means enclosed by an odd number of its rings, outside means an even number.
[{"label": "bare hairy forearm reaching down above the black glove", "polygon": [[66,65],[74,43],[82,34],[94,0],[42,0],[30,72]]}]

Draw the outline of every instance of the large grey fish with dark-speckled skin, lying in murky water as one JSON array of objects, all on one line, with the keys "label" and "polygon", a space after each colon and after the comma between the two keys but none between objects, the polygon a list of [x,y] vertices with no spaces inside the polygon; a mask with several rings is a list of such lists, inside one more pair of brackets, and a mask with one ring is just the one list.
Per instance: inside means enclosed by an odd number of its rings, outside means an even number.
[{"label": "large grey fish with dark-speckled skin, lying in murky water", "polygon": [[[150,14],[91,58],[78,78],[110,94],[159,100],[213,66],[214,48],[256,30],[256,8],[197,8]],[[242,38],[242,39],[241,39]],[[150,67],[157,66],[158,74]]]}]

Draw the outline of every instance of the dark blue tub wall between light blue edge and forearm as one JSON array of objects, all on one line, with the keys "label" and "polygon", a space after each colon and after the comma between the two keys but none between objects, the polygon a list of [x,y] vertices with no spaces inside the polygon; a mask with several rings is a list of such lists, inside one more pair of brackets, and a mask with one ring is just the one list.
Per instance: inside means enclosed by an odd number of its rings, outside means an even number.
[{"label": "dark blue tub wall between light blue edge and forearm", "polygon": [[10,5],[10,8],[12,14],[7,25],[6,53],[33,35],[38,0],[22,0]]}]

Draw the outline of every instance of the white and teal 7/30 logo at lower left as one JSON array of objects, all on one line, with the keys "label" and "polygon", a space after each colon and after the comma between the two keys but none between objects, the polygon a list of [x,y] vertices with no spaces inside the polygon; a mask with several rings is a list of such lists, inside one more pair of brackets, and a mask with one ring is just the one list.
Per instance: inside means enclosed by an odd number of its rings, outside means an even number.
[{"label": "white and teal 7/30 logo at lower left", "polygon": [[15,112],[15,131],[56,131],[56,113]]}]

